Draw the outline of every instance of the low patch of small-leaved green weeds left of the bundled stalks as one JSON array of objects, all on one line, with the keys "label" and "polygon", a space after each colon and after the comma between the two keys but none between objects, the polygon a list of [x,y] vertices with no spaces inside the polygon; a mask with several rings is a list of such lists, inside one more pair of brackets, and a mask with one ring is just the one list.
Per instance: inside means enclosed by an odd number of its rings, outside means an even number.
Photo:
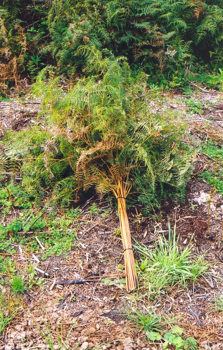
[{"label": "low patch of small-leaved green weeds left of the bundled stalks", "polygon": [[44,216],[44,211],[34,213],[32,210],[23,210],[20,214],[12,222],[0,225],[1,253],[13,253],[13,243],[25,246],[27,251],[37,251],[40,247],[35,236],[46,248],[42,260],[53,254],[66,254],[76,244],[77,226],[70,228],[73,218],[57,217],[55,212]]}]

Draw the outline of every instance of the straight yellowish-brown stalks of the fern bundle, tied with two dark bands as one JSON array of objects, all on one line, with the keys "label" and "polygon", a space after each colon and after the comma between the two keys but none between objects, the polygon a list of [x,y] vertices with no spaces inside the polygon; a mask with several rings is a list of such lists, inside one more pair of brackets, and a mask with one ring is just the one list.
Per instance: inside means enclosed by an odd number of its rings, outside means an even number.
[{"label": "straight yellowish-brown stalks of the fern bundle, tied with two dark bands", "polygon": [[125,184],[124,181],[119,180],[117,185],[117,191],[113,191],[118,200],[118,214],[120,220],[120,230],[122,244],[124,248],[125,259],[125,276],[126,276],[126,290],[127,292],[138,288],[138,278],[135,268],[135,259],[132,249],[132,240],[128,222],[128,216],[126,211],[126,196],[128,195],[130,186]]}]

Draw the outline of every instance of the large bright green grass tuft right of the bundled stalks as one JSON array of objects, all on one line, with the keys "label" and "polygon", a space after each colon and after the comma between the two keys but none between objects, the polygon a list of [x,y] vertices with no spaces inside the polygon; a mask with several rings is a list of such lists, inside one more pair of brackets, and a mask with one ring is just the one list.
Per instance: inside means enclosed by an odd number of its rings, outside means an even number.
[{"label": "large bright green grass tuft right of the bundled stalks", "polygon": [[203,258],[193,256],[191,243],[184,249],[178,247],[176,224],[172,231],[169,221],[168,230],[168,239],[159,236],[154,250],[143,244],[134,246],[142,254],[140,266],[137,264],[139,279],[152,299],[176,284],[185,287],[188,281],[195,281],[207,270]]}]

